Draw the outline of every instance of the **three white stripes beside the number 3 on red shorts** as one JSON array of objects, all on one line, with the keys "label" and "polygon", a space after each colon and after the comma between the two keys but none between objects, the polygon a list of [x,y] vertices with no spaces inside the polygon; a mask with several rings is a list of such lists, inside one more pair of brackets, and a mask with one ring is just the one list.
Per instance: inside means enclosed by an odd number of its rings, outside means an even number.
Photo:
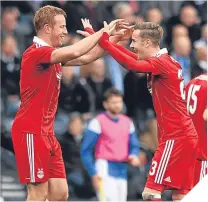
[{"label": "three white stripes beside the number 3 on red shorts", "polygon": [[170,159],[171,152],[173,150],[174,140],[167,140],[165,144],[165,148],[162,154],[162,158],[160,160],[160,164],[157,169],[157,173],[155,176],[155,183],[162,184],[162,180],[168,165],[168,161]]}]

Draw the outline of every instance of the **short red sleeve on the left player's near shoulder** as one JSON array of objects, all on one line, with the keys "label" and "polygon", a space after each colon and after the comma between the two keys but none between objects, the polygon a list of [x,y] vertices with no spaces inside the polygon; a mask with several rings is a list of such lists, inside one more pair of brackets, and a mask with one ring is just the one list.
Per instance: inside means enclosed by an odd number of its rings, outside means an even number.
[{"label": "short red sleeve on the left player's near shoulder", "polygon": [[50,46],[42,46],[35,50],[34,57],[37,64],[50,64],[51,54],[55,49]]}]

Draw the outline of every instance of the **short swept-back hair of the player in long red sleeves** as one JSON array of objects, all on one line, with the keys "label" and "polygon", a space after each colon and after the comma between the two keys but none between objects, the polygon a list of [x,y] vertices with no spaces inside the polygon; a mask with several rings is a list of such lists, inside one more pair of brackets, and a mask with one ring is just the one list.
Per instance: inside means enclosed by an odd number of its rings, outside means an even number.
[{"label": "short swept-back hair of the player in long red sleeves", "polygon": [[134,30],[141,30],[141,38],[149,38],[153,44],[160,45],[163,36],[163,28],[154,22],[139,22],[135,24]]}]

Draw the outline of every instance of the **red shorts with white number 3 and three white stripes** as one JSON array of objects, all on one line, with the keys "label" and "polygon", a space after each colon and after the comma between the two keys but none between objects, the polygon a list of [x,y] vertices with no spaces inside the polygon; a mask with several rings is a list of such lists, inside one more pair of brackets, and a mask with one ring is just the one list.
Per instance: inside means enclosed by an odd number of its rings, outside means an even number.
[{"label": "red shorts with white number 3 and three white stripes", "polygon": [[194,185],[198,139],[167,140],[161,142],[155,152],[147,188],[160,192],[170,189],[187,194]]}]

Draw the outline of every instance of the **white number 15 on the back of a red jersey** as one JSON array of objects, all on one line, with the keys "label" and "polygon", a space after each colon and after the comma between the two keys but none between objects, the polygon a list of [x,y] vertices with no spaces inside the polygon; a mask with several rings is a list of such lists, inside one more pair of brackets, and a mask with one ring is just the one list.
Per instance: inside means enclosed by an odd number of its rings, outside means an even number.
[{"label": "white number 15 on the back of a red jersey", "polygon": [[[201,86],[191,84],[188,90],[188,97],[187,97],[187,110],[189,113],[194,114],[197,107],[197,96],[196,92],[199,91]],[[191,99],[193,100],[193,105],[190,105]]]}]

